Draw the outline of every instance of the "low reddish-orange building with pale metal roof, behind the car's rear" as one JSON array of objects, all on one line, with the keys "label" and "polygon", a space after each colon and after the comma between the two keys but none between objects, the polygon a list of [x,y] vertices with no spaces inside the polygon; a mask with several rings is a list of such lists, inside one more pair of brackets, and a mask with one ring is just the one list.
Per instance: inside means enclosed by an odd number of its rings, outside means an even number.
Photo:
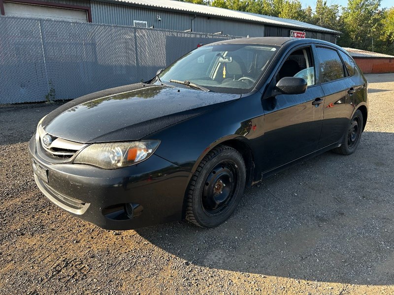
[{"label": "low reddish-orange building with pale metal roof, behind the car's rear", "polygon": [[394,73],[394,56],[355,48],[344,49],[364,74]]}]

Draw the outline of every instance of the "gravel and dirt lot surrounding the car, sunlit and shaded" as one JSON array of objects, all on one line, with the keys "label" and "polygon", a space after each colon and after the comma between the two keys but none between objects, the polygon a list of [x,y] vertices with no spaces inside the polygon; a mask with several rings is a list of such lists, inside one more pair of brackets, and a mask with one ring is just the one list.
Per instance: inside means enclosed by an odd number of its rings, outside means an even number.
[{"label": "gravel and dirt lot surrounding the car, sunlit and shaded", "polygon": [[0,107],[1,294],[394,294],[394,74],[369,75],[351,156],[249,189],[224,225],[113,232],[49,203],[27,141],[57,106]]}]

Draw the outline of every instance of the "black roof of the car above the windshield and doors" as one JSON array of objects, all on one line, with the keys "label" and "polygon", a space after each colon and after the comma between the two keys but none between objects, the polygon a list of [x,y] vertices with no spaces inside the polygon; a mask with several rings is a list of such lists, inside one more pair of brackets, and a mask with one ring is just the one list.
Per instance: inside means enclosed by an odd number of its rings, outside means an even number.
[{"label": "black roof of the car above the windshield and doors", "polygon": [[[297,44],[310,44],[310,43],[315,43],[315,44],[324,44],[327,46],[331,46],[334,48],[342,49],[339,46],[323,41],[323,40],[318,40],[318,39],[309,39],[309,38],[291,38],[291,37],[253,37],[253,38],[239,38],[239,39],[229,39],[229,40],[223,40],[223,41],[218,41],[211,43],[214,45],[219,45],[219,44],[258,44],[258,45],[272,45],[272,46],[284,46],[286,45],[297,45]],[[343,49],[342,49],[343,50]]]}]

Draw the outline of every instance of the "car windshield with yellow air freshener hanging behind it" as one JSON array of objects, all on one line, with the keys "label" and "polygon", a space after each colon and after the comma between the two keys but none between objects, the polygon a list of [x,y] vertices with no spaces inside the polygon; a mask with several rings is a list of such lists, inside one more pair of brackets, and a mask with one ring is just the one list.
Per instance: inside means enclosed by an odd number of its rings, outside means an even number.
[{"label": "car windshield with yellow air freshener hanging behind it", "polygon": [[247,93],[256,85],[277,47],[250,44],[203,46],[160,73],[163,83],[194,83],[210,91]]}]

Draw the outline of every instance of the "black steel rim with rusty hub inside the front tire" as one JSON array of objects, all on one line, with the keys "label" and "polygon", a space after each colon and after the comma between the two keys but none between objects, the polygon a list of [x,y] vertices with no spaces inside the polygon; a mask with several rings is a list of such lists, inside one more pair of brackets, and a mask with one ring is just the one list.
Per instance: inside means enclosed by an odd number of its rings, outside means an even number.
[{"label": "black steel rim with rusty hub inside the front tire", "polygon": [[231,202],[236,175],[236,165],[228,161],[219,163],[211,170],[201,193],[202,207],[207,214],[218,213]]}]

